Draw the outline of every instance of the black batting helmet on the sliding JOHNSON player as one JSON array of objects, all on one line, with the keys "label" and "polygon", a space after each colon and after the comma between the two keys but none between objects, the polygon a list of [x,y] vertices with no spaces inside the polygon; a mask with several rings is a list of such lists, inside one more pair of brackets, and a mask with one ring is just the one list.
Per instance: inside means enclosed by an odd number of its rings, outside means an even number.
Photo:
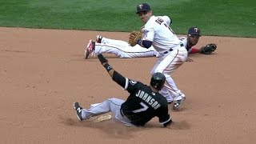
[{"label": "black batting helmet on the sliding JOHNSON player", "polygon": [[166,82],[166,77],[164,74],[154,73],[151,77],[150,86],[153,86],[157,90],[161,90],[165,82]]}]

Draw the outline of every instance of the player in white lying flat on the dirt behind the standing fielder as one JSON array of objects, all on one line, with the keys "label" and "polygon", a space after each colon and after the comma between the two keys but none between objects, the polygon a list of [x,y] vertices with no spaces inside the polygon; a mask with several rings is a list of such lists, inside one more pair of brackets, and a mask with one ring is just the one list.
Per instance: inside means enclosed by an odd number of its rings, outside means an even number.
[{"label": "player in white lying flat on the dirt behind the standing fielder", "polygon": [[[166,16],[167,17],[167,16]],[[168,17],[167,17],[168,18]],[[207,44],[206,46],[202,46],[201,48],[194,47],[197,43],[200,35],[200,29],[198,27],[190,27],[188,30],[188,34],[186,37],[180,37],[178,38],[183,45],[186,47],[186,50],[188,50],[189,54],[211,54],[216,50],[217,46],[213,45],[208,48]],[[90,40],[89,43],[94,42]],[[100,44],[102,43],[102,44]],[[144,58],[144,57],[159,57],[159,54],[156,50],[154,50],[154,46],[150,46],[149,49],[145,49],[142,46],[139,46],[138,44],[135,46],[130,46],[128,42],[122,41],[122,40],[116,40],[111,38],[105,38],[100,35],[96,36],[95,44],[88,45],[88,46],[94,46],[92,48],[86,47],[85,50],[85,58],[87,59],[89,54],[115,54],[119,58]],[[193,46],[193,47],[192,47]],[[206,48],[208,48],[206,50]],[[90,50],[92,51],[90,51]],[[87,57],[86,57],[87,55]],[[186,61],[193,61],[190,58],[187,58]]]}]

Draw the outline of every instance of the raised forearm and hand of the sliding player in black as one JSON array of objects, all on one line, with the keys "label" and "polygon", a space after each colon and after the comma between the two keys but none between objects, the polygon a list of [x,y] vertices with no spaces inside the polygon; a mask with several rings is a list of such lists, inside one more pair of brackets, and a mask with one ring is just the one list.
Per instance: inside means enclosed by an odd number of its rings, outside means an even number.
[{"label": "raised forearm and hand of the sliding player in black", "polygon": [[121,74],[115,71],[108,63],[108,60],[104,58],[102,54],[98,54],[98,59],[102,63],[102,66],[104,66],[106,71],[110,74],[110,77],[113,79],[113,81],[117,82],[118,85],[125,88],[126,81],[128,81],[128,78],[124,78]]}]

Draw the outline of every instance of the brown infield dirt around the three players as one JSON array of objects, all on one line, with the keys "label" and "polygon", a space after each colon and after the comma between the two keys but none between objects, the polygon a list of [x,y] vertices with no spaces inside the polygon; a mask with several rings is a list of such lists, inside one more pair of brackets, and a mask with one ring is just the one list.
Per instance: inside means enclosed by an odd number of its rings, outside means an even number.
[{"label": "brown infield dirt around the three players", "polygon": [[[256,38],[203,36],[198,47],[218,45],[214,54],[192,54],[172,77],[186,94],[171,110],[171,129],[154,118],[145,128],[113,121],[78,122],[73,102],[88,108],[128,93],[111,80],[98,58],[83,59],[89,39],[100,34],[127,40],[128,33],[0,27],[0,138],[6,143],[254,143],[256,142]],[[156,58],[106,54],[122,75],[149,83]]]}]

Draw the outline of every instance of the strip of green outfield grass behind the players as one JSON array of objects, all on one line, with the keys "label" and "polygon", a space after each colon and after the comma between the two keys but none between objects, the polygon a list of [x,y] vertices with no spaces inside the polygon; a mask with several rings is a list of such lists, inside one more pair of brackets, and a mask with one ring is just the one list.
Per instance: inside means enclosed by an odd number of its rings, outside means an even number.
[{"label": "strip of green outfield grass behind the players", "polygon": [[177,34],[198,26],[203,35],[256,38],[254,0],[0,0],[0,26],[138,30],[140,2],[149,3],[155,15],[170,16]]}]

